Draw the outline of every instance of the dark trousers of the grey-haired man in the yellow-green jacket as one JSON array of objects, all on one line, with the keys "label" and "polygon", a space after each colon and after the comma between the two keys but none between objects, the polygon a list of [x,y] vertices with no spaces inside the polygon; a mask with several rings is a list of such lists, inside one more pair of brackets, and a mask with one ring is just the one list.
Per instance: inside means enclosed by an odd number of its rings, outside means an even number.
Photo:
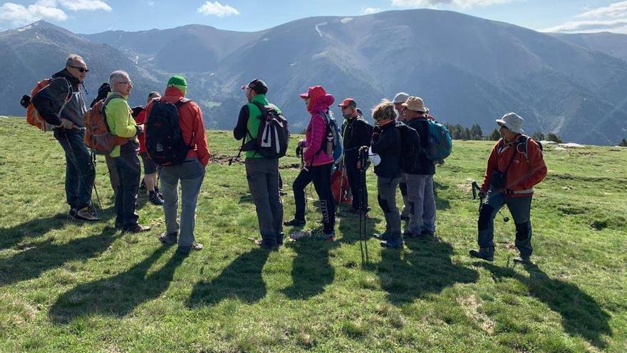
[{"label": "dark trousers of the grey-haired man in the yellow-green jacket", "polygon": [[127,153],[113,158],[118,169],[118,192],[115,193],[115,224],[124,230],[132,230],[138,225],[135,213],[138,188],[140,187],[141,165],[137,153]]}]

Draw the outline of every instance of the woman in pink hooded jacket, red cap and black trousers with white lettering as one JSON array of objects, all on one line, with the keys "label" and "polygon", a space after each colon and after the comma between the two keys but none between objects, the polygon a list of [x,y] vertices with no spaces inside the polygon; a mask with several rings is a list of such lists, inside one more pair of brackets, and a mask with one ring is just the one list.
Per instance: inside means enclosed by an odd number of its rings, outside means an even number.
[{"label": "woman in pink hooded jacket, red cap and black trousers with white lettering", "polygon": [[[331,167],[333,156],[326,151],[328,107],[333,104],[335,98],[326,94],[322,86],[309,87],[306,93],[301,94],[305,101],[307,111],[311,113],[311,119],[307,126],[304,140],[299,141],[299,147],[304,148],[303,157],[305,168],[292,183],[294,190],[294,203],[296,213],[294,219],[284,222],[284,225],[305,225],[305,187],[314,183],[316,193],[320,199],[320,212],[322,213],[322,229],[313,230],[311,236],[321,240],[333,240],[335,237],[336,203],[331,192]],[[294,240],[308,235],[307,232],[292,233]]]}]

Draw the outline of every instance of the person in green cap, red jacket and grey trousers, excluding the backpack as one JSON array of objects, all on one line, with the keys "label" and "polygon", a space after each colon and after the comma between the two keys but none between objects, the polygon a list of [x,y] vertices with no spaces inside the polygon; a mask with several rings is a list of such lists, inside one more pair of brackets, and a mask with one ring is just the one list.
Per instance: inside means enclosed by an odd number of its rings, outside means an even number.
[{"label": "person in green cap, red jacket and grey trousers, excluding the backpack", "polygon": [[[186,94],[187,81],[183,76],[175,75],[167,81],[165,94],[148,103],[146,107],[149,126],[147,143],[150,140],[152,128],[150,126],[151,113],[153,111],[157,113],[157,110],[164,106],[175,104],[179,113],[182,139],[190,148],[182,162],[162,165],[160,171],[165,232],[159,240],[165,245],[178,242],[177,252],[184,255],[189,254],[191,250],[202,249],[202,244],[195,241],[194,228],[200,186],[204,179],[205,168],[209,163],[209,148],[207,148],[207,135],[204,133],[202,111],[195,102],[185,98]],[[180,224],[177,222],[179,182],[182,204]]]}]

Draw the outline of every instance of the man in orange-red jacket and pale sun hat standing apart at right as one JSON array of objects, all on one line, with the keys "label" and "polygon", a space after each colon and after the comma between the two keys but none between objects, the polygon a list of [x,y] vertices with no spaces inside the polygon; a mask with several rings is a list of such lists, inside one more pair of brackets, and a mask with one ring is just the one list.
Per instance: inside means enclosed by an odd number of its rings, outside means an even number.
[{"label": "man in orange-red jacket and pale sun hat standing apart at right", "polygon": [[507,113],[497,120],[501,138],[492,148],[480,197],[487,195],[477,222],[480,250],[470,255],[483,260],[494,260],[494,217],[507,205],[516,225],[515,245],[520,257],[515,262],[529,263],[533,252],[531,213],[534,185],[546,176],[546,164],[536,141],[522,135],[523,119],[516,113]]}]

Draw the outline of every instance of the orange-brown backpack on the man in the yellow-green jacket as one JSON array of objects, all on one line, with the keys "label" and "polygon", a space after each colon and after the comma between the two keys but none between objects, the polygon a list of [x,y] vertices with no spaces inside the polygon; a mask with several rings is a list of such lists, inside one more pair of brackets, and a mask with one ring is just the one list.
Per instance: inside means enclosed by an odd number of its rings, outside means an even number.
[{"label": "orange-brown backpack on the man in the yellow-green jacket", "polygon": [[115,146],[128,142],[128,138],[113,135],[109,129],[105,106],[113,98],[120,96],[100,100],[85,113],[85,145],[98,155],[108,155]]}]

